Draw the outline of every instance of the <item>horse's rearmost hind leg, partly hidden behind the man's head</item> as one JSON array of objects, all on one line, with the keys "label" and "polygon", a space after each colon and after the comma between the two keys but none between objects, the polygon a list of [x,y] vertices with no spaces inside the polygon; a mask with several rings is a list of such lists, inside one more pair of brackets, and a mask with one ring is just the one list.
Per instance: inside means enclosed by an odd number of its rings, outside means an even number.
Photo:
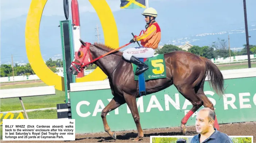
[{"label": "horse's rearmost hind leg, partly hidden behind the man's head", "polygon": [[[214,107],[213,107],[213,103],[209,100],[209,98],[207,98],[207,96],[203,92],[203,86],[198,90],[197,95],[203,101],[203,106],[204,107],[208,107],[208,108],[212,109],[215,112]],[[215,115],[215,120],[214,120],[214,128],[219,130],[219,124],[218,124],[216,115]]]}]

